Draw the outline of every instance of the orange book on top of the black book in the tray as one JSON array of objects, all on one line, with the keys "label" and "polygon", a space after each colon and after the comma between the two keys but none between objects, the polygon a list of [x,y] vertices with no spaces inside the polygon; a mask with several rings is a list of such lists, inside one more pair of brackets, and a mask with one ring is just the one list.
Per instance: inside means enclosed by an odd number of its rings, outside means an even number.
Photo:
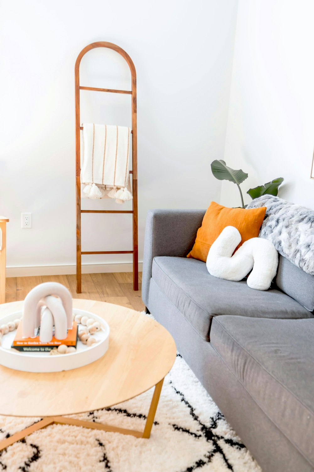
[{"label": "orange book on top of the black book in the tray", "polygon": [[[36,337],[23,337],[22,332],[22,323],[23,320],[20,322],[16,329],[16,335],[14,337],[12,347],[15,349],[18,349],[19,351],[48,351],[50,349],[53,349],[54,347],[60,346],[60,344],[65,344],[66,346],[74,346],[76,347],[77,343],[77,333],[78,333],[78,326],[77,322],[73,321],[72,324],[72,329],[68,329],[68,335],[65,339],[56,339],[54,336],[54,330],[53,330],[53,336],[51,341],[48,343],[41,343],[39,340],[39,333],[40,333],[40,328],[36,330]],[[32,348],[32,347],[42,347],[45,349],[27,349],[27,348]],[[25,348],[25,349],[24,349]]]}]

